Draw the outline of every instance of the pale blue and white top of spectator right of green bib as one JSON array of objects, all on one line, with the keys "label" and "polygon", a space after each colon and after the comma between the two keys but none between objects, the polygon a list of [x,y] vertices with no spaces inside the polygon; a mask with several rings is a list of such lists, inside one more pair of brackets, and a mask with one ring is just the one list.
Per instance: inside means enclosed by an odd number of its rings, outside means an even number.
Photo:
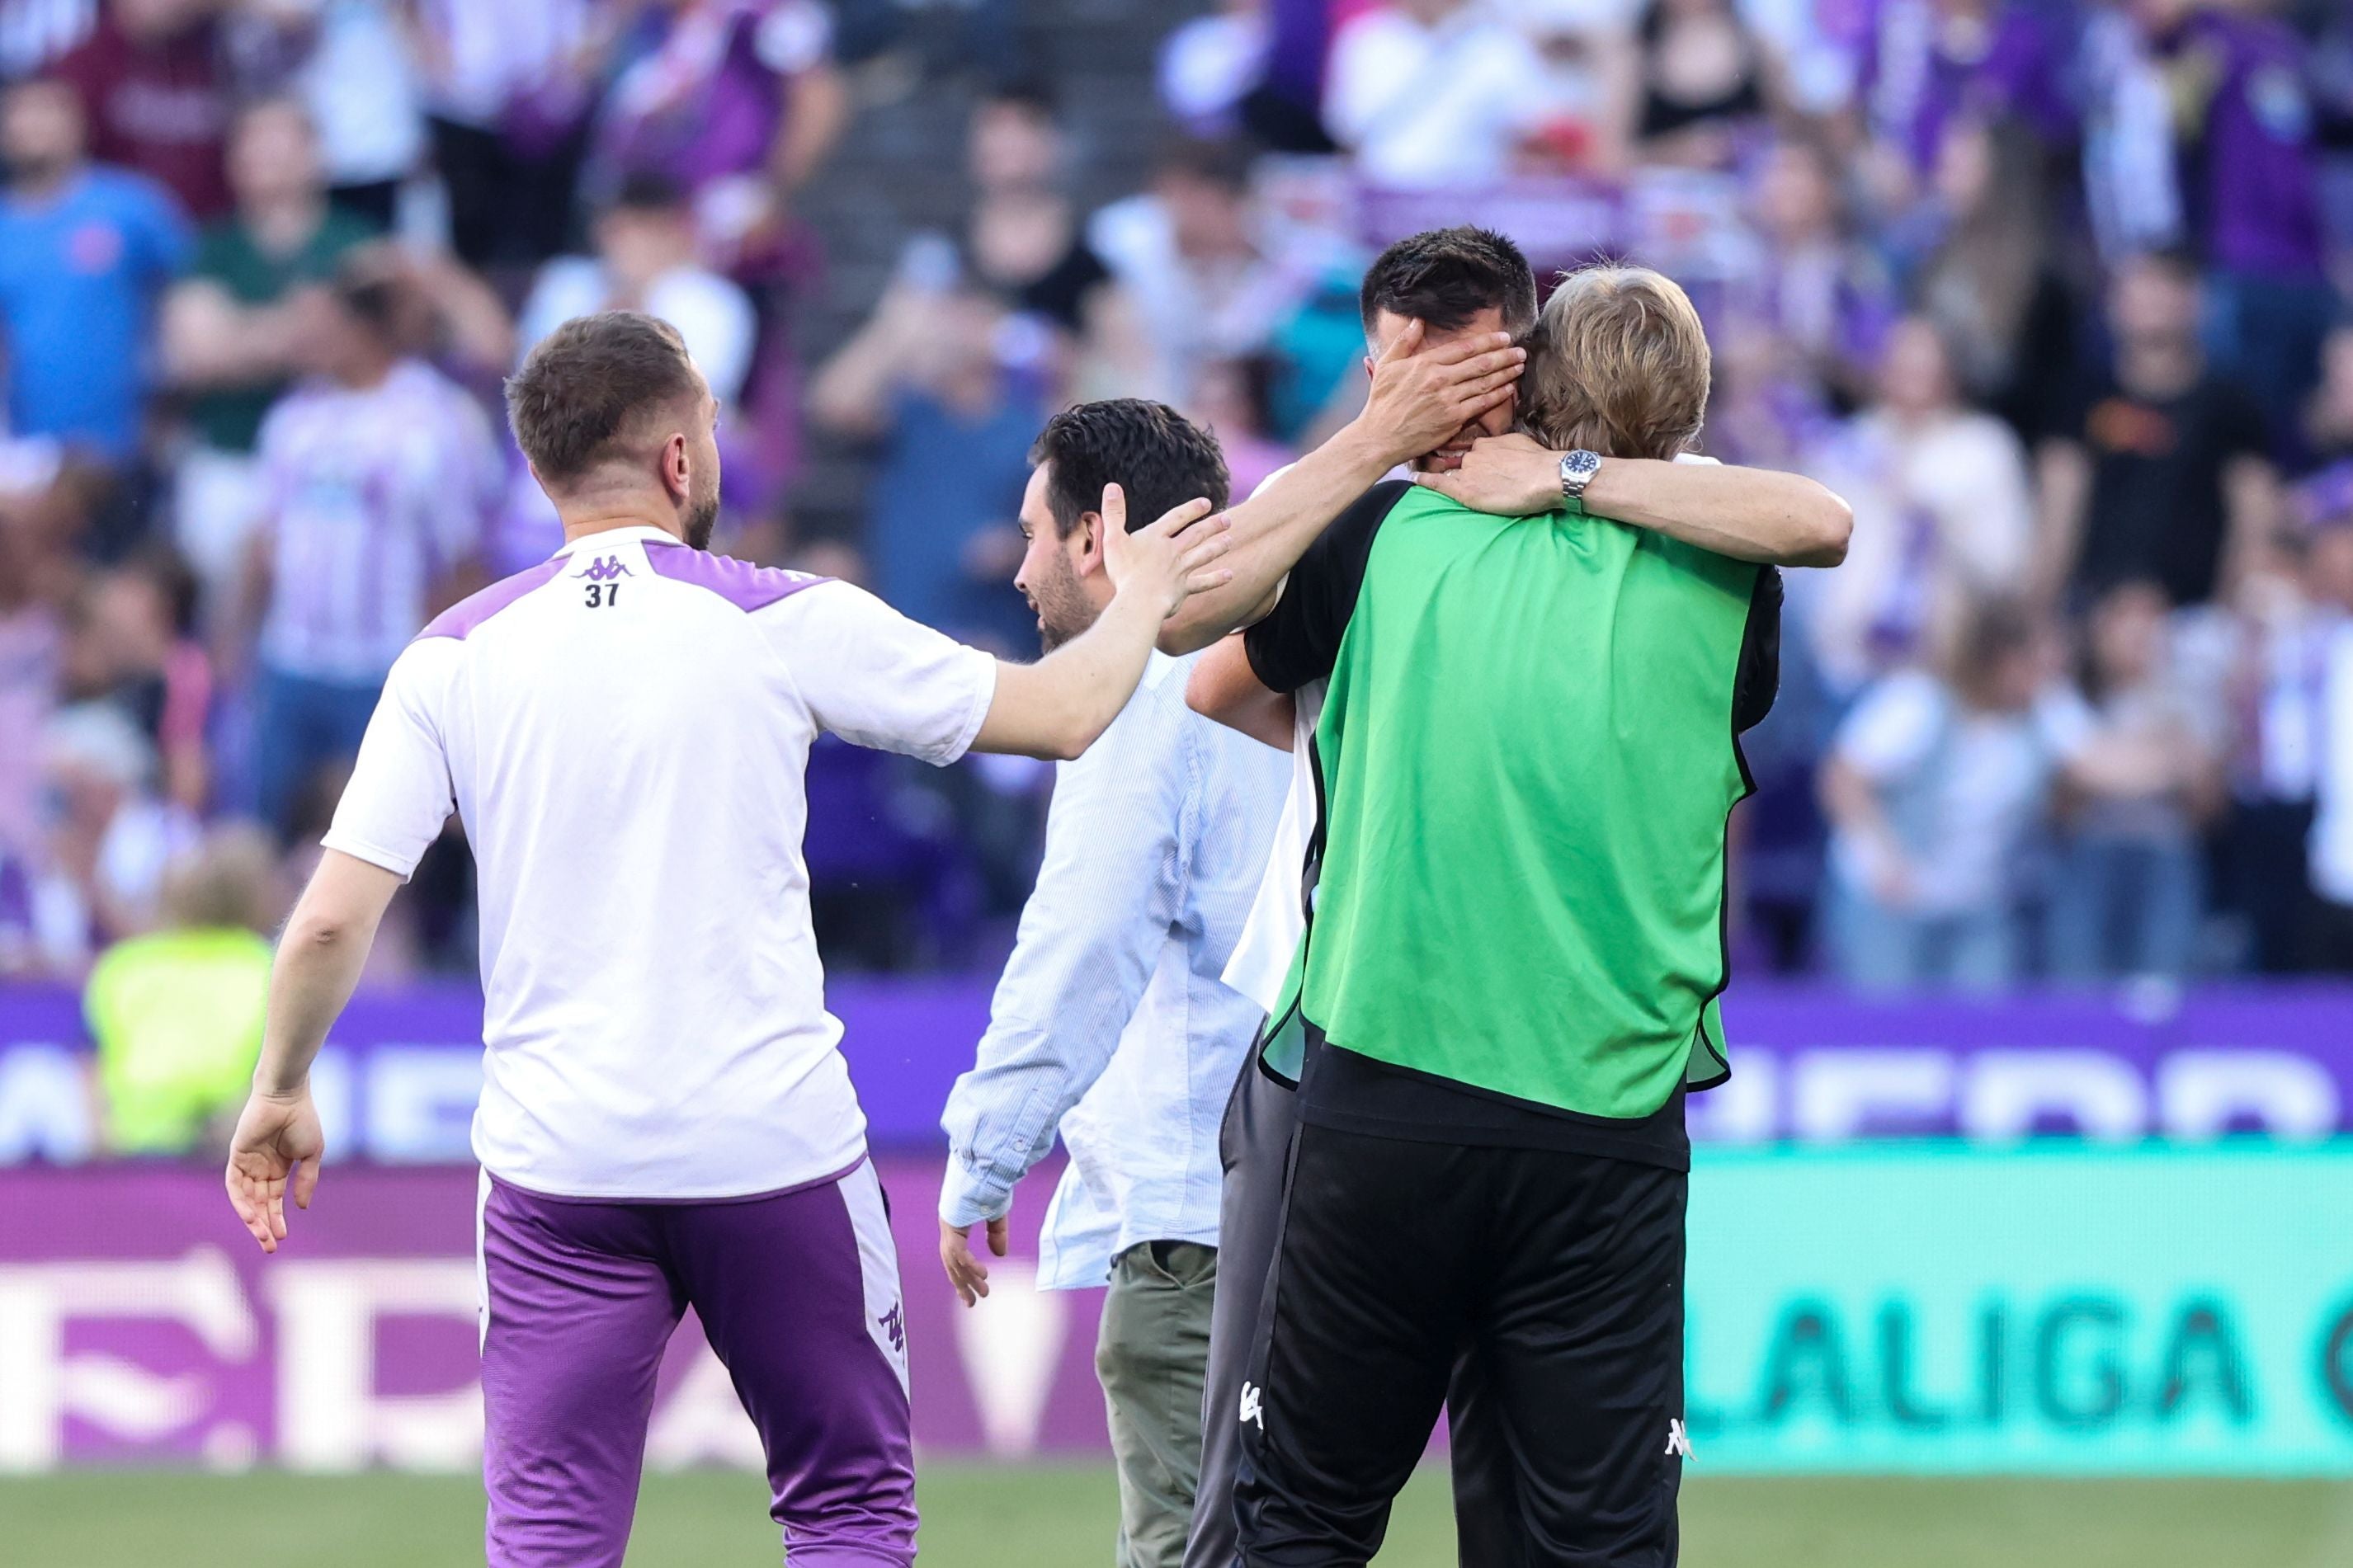
[{"label": "pale blue and white top of spectator right of green bib", "polygon": [[[1932,842],[1925,853],[1915,846],[1915,903],[1906,912],[1965,914],[2009,898],[2026,837],[2045,820],[2052,783],[2089,729],[2089,710],[2068,689],[2042,693],[2024,712],[1972,712],[1944,682],[1906,670],[1864,696],[1831,750],[1882,799],[1920,792],[1925,802]],[[1871,849],[1849,832],[1831,837],[1831,867],[1849,886],[1873,886]]]}]

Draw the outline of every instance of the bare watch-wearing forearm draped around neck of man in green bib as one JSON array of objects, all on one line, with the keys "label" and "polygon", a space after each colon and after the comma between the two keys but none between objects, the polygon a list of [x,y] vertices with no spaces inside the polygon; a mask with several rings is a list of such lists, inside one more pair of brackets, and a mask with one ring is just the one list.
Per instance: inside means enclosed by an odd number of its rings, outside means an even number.
[{"label": "bare watch-wearing forearm draped around neck of man in green bib", "polygon": [[[1527,435],[1475,442],[1452,473],[1421,473],[1426,484],[1499,517],[1560,505],[1560,454]],[[1586,510],[1687,545],[1769,567],[1835,567],[1847,559],[1854,512],[1805,475],[1722,463],[1609,458],[1586,487]]]}]

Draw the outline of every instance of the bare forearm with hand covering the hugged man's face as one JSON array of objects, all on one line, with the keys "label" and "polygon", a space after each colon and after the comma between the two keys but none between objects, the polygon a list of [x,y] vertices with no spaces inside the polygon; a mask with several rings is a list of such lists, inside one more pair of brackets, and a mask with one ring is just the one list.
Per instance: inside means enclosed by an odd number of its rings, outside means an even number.
[{"label": "bare forearm with hand covering the hugged man's face", "polygon": [[1339,435],[1292,463],[1235,505],[1228,583],[1186,599],[1160,630],[1160,649],[1193,654],[1264,616],[1306,548],[1398,463],[1431,451],[1487,409],[1506,402],[1520,378],[1525,348],[1511,334],[1421,348],[1421,322],[1409,324],[1372,367],[1365,411]]}]

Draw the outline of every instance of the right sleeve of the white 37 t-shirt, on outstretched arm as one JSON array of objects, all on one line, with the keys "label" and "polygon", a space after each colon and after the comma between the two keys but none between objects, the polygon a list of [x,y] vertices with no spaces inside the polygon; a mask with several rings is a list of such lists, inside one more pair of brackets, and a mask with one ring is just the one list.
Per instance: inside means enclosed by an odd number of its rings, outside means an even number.
[{"label": "right sleeve of the white 37 t-shirt, on outstretched arm", "polygon": [[753,614],[809,715],[842,741],[946,766],[981,733],[998,661],[908,621],[849,583],[821,583]]}]

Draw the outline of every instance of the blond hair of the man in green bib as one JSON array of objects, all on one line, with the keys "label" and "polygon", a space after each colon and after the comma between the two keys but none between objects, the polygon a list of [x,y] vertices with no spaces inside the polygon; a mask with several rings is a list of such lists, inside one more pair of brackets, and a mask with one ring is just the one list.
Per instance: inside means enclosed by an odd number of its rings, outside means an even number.
[{"label": "blond hair of the man in green bib", "polygon": [[1708,334],[1673,277],[1577,268],[1527,341],[1520,428],[1553,449],[1673,458],[1699,440],[1708,378]]}]

